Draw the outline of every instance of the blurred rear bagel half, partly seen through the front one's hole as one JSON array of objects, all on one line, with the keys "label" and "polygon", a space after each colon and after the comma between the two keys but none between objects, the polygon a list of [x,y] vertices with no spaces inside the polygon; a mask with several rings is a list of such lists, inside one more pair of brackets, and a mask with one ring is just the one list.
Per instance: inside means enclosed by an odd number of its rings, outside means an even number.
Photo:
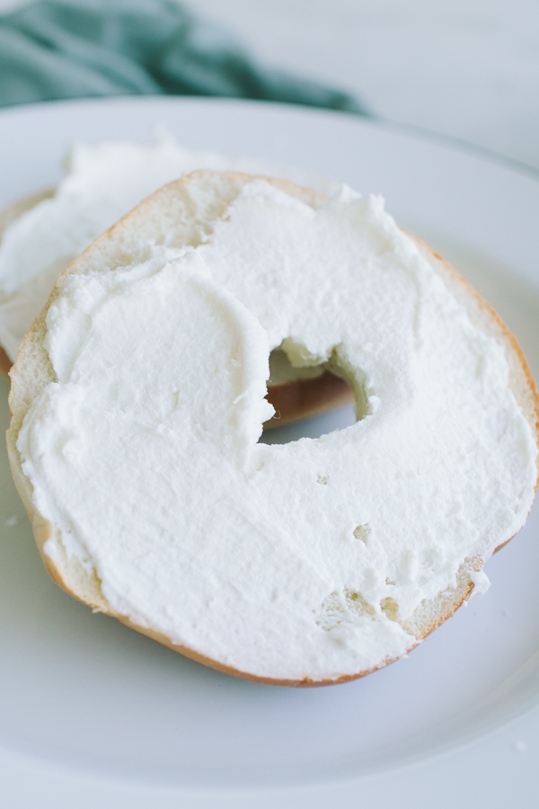
[{"label": "blurred rear bagel half, partly seen through the front one's hole", "polygon": [[[150,146],[121,141],[79,144],[56,190],[32,194],[0,213],[0,371],[9,372],[23,335],[47,303],[58,274],[75,256],[164,182],[202,166],[267,170],[250,158],[190,152],[170,137]],[[281,172],[302,174],[289,168]],[[327,188],[332,184],[322,177],[311,179]],[[349,386],[333,374],[291,369],[282,352],[271,360],[270,400],[278,420],[267,428],[353,402]]]}]

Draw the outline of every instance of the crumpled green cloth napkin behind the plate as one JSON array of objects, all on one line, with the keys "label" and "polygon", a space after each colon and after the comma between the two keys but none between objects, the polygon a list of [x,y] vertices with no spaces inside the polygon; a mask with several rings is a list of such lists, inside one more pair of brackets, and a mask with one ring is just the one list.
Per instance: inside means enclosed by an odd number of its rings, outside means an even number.
[{"label": "crumpled green cloth napkin behind the plate", "polygon": [[175,0],[42,0],[0,15],[0,106],[102,95],[218,95],[366,114],[266,67]]}]

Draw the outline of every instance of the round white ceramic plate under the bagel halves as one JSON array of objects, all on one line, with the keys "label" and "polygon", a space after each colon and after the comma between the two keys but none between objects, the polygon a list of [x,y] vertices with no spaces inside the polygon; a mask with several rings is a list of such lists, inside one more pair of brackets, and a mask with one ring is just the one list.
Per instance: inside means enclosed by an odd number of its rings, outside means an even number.
[{"label": "round white ceramic plate under the bagel halves", "polygon": [[[0,205],[57,182],[74,139],[146,140],[156,123],[187,147],[383,192],[402,225],[499,309],[539,378],[539,182],[417,134],[252,102],[17,108],[0,112]],[[348,419],[340,412],[308,429]],[[537,510],[488,563],[490,591],[407,660],[333,688],[278,689],[199,666],[70,599],[40,563],[4,449],[0,479],[0,798],[9,809],[535,805]]]}]

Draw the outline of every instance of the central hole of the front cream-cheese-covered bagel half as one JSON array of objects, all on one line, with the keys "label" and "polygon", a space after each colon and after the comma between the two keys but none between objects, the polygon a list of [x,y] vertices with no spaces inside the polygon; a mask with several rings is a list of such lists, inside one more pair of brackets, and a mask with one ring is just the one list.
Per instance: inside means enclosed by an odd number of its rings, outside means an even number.
[{"label": "central hole of the front cream-cheese-covered bagel half", "polygon": [[320,438],[367,415],[365,392],[356,390],[354,396],[334,356],[326,362],[295,367],[281,346],[270,353],[267,398],[276,413],[264,424],[260,438],[264,444]]}]

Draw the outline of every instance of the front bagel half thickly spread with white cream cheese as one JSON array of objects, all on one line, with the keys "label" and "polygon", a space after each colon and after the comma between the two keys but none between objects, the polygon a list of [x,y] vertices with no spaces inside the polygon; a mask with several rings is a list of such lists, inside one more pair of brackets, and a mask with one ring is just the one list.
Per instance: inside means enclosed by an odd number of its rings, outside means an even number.
[{"label": "front bagel half thickly spread with white cream cheese", "polygon": [[[257,443],[275,349],[347,378],[358,421]],[[52,578],[249,680],[402,657],[488,586],[537,488],[516,339],[346,187],[172,182],[60,276],[11,378],[13,478]]]}]

